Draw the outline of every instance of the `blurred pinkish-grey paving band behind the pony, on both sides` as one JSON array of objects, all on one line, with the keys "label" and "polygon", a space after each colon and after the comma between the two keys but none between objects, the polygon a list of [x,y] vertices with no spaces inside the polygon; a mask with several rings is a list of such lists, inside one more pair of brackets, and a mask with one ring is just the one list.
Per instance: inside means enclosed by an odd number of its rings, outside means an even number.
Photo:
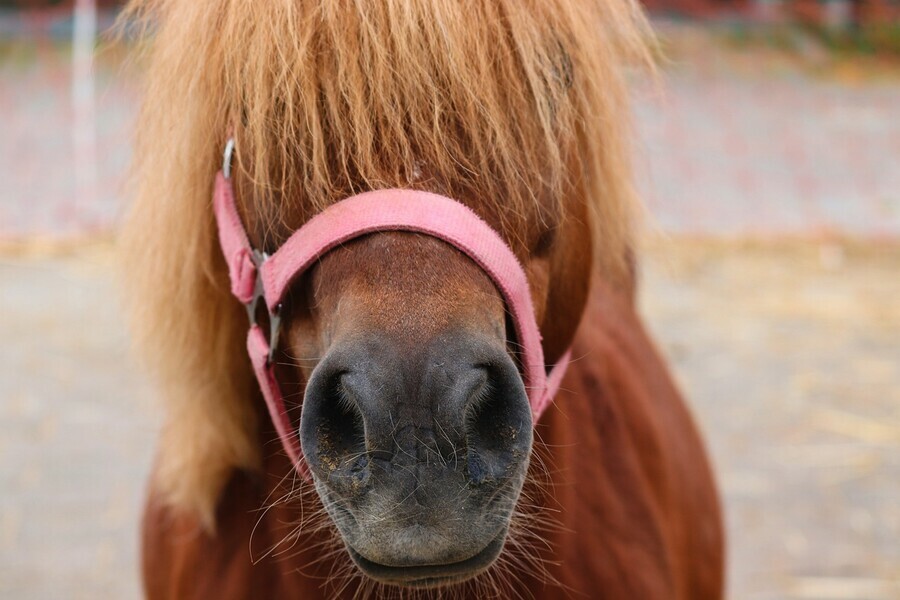
[{"label": "blurred pinkish-grey paving band behind the pony, on both sides", "polygon": [[[73,167],[64,44],[0,46],[0,240],[112,229],[135,80],[97,69],[96,189]],[[717,54],[719,52],[719,54]],[[637,86],[640,187],[675,234],[900,237],[900,74],[841,82],[761,58],[739,72],[707,44]],[[744,65],[746,67],[746,65]]]}]

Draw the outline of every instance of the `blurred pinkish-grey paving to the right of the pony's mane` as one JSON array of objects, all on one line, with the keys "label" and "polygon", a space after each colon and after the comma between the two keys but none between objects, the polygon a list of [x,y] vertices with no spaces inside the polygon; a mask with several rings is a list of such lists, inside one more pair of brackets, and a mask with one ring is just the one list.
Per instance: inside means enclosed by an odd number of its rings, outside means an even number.
[{"label": "blurred pinkish-grey paving to the right of the pony's mane", "polygon": [[640,186],[673,234],[900,237],[900,78],[701,61],[638,92]]}]

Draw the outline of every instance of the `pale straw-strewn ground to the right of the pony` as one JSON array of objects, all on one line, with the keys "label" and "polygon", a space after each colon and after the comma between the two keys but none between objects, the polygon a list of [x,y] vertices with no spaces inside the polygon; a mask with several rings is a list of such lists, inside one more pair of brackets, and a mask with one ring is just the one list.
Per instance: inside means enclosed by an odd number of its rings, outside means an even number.
[{"label": "pale straw-strewn ground to the right of the pony", "polygon": [[900,598],[900,251],[649,250],[644,313],[716,466],[730,597]]}]

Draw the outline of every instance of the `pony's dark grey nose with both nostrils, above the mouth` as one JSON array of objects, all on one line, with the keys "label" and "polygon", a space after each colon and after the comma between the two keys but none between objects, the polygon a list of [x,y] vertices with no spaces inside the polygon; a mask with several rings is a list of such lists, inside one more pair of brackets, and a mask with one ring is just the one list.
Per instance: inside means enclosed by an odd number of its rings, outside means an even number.
[{"label": "pony's dark grey nose with both nostrils, above the mouth", "polygon": [[300,442],[322,481],[359,485],[395,469],[456,470],[478,485],[527,460],[531,407],[497,341],[338,344],[306,388]]}]

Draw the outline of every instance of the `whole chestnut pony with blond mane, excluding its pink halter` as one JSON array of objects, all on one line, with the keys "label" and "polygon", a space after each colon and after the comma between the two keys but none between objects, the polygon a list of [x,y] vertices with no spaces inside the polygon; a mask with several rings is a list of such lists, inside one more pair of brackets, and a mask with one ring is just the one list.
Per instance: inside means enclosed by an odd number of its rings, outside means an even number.
[{"label": "whole chestnut pony with blond mane, excluding its pink halter", "polygon": [[[121,232],[162,425],[148,598],[714,599],[723,532],[703,444],[635,313],[632,0],[134,0],[144,100]],[[494,283],[387,231],[290,287],[271,357],[279,443],[231,294],[213,182],[276,251],[370,190],[469,207],[518,259],[548,366],[532,423]]]}]

